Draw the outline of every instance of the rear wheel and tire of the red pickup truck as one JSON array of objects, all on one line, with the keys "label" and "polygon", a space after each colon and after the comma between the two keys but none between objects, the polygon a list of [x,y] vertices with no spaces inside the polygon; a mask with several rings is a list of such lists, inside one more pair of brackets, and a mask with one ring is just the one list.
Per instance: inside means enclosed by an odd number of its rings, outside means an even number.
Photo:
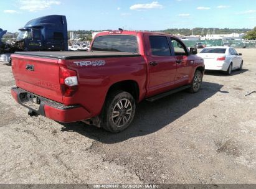
[{"label": "rear wheel and tire of the red pickup truck", "polygon": [[130,93],[115,91],[108,94],[102,114],[102,127],[110,132],[121,132],[130,126],[135,116],[136,103]]}]

